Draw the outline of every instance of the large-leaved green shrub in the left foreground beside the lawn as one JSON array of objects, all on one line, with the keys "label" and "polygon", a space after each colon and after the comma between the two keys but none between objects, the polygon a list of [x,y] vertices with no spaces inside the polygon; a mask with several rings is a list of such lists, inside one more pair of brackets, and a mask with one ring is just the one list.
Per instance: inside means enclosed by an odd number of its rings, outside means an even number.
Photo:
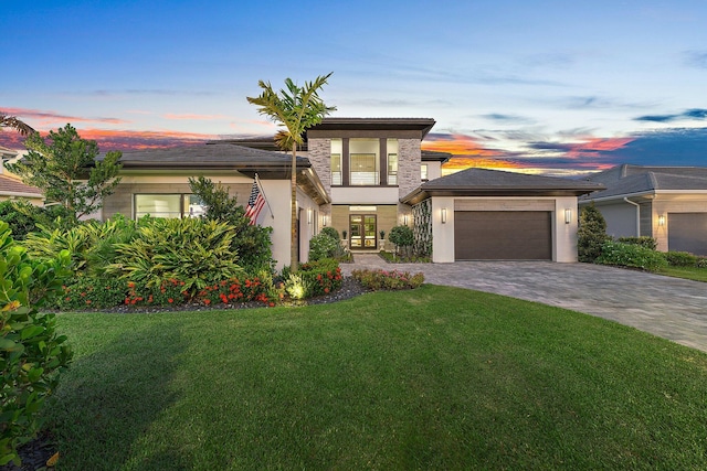
[{"label": "large-leaved green shrub in the left foreground beside the lawn", "polygon": [[39,413],[72,357],[54,314],[38,313],[68,276],[68,253],[32,259],[10,234],[0,222],[0,465],[20,464],[17,449],[41,427]]}]

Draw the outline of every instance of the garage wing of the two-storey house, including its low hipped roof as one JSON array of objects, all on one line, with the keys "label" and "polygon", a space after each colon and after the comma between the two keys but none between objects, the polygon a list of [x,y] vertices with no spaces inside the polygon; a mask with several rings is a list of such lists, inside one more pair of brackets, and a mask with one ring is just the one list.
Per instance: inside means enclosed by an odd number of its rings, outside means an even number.
[{"label": "garage wing of the two-storey house, including its low hipped roof", "polygon": [[[467,169],[402,199],[432,246],[432,260],[577,261],[577,197],[599,183]],[[426,228],[425,228],[426,227]]]}]

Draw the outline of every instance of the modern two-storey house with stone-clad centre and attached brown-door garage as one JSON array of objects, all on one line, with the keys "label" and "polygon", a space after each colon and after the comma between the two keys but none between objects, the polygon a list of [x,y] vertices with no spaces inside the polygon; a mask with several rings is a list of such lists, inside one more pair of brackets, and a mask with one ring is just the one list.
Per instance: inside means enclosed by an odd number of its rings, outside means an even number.
[{"label": "modern two-storey house with stone-clad centre and attached brown-door garage", "polygon": [[[436,263],[577,260],[577,197],[603,189],[600,183],[481,169],[442,176],[451,154],[421,149],[434,124],[325,118],[309,128],[296,168],[302,261],[321,227],[346,233],[352,251],[377,251],[380,232],[397,225],[411,226],[415,244]],[[268,201],[258,224],[273,228],[273,256],[282,268],[289,260],[291,159],[272,139],[124,152],[123,180],[105,200],[103,217],[197,215],[202,208],[188,184],[197,175],[221,182],[245,204],[257,174]],[[500,248],[490,250],[492,242]]]}]

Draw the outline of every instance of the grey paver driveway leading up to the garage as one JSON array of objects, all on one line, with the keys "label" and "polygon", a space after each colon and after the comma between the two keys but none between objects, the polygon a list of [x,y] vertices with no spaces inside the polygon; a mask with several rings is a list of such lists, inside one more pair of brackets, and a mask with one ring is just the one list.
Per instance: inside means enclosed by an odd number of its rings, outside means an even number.
[{"label": "grey paver driveway leading up to the garage", "polygon": [[707,283],[590,264],[456,261],[386,264],[356,255],[354,269],[424,272],[425,282],[495,292],[631,325],[707,352]]}]

